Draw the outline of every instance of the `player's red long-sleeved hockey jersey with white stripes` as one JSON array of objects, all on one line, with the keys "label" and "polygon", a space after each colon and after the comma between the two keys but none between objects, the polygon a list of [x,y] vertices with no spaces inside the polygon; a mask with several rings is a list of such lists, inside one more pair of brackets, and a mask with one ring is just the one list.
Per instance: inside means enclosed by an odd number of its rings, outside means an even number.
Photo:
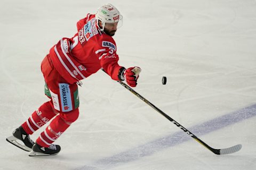
[{"label": "player's red long-sleeved hockey jersey with white stripes", "polygon": [[73,38],[62,38],[50,49],[55,69],[70,84],[85,79],[103,68],[112,79],[118,80],[118,65],[114,39],[99,30],[95,14],[77,22]]}]

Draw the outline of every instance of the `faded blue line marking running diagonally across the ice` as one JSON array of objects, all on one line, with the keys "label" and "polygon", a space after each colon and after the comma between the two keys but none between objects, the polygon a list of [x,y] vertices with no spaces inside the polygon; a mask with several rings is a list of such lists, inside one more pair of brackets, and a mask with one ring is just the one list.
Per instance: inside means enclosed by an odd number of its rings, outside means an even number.
[{"label": "faded blue line marking running diagonally across the ice", "polygon": [[[194,133],[197,137],[199,137],[200,135],[204,135],[204,134],[225,128],[228,125],[241,122],[253,116],[256,116],[256,104],[242,108],[238,111],[214,118],[213,120],[204,122],[202,124],[195,125],[191,128],[188,128],[188,130]],[[189,137],[183,131],[179,131],[174,134],[167,135],[166,137],[148,142],[145,145],[141,145],[141,146],[126,150],[124,152],[113,155],[111,157],[100,159],[97,162],[95,162],[93,166],[82,166],[79,169],[99,169],[99,168],[104,169],[107,167],[111,168],[124,163],[132,162],[134,160],[137,160],[145,156],[152,155],[155,152],[158,152],[159,150],[173,147],[175,145],[179,145],[180,143],[186,142],[190,139],[193,139],[193,138]],[[234,143],[234,145],[236,144],[237,143]]]}]

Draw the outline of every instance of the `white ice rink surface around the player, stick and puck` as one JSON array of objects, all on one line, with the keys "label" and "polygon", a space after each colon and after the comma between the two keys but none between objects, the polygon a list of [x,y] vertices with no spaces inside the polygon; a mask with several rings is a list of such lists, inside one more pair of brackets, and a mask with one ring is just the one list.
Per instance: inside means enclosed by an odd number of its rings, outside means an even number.
[{"label": "white ice rink surface around the player, stick and puck", "polygon": [[[29,157],[5,140],[48,100],[49,49],[106,3],[124,17],[119,64],[142,69],[134,90],[211,147],[240,151],[214,155],[102,71],[83,80],[59,155]],[[0,169],[256,169],[256,1],[1,0],[0,29]]]}]

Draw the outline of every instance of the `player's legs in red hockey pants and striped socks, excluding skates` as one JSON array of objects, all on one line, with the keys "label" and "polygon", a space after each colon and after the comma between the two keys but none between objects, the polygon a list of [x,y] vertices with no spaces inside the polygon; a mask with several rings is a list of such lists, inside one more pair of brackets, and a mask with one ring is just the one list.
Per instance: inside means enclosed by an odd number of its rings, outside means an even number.
[{"label": "player's legs in red hockey pants and striped socks, excluding skates", "polygon": [[68,84],[53,68],[50,57],[44,58],[41,70],[45,79],[45,95],[51,100],[41,105],[22,127],[28,134],[33,134],[50,122],[36,140],[40,146],[49,147],[77,120],[79,98],[77,84]]}]

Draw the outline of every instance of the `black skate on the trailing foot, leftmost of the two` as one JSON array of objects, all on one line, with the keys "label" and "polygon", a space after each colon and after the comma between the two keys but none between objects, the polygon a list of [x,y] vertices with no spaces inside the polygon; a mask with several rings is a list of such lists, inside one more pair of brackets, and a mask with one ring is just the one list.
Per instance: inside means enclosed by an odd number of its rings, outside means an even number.
[{"label": "black skate on the trailing foot, leftmost of the two", "polygon": [[19,128],[15,129],[12,135],[6,140],[13,145],[19,147],[20,149],[31,151],[34,145],[34,141],[30,139],[29,134],[25,132],[25,130],[20,126]]}]

